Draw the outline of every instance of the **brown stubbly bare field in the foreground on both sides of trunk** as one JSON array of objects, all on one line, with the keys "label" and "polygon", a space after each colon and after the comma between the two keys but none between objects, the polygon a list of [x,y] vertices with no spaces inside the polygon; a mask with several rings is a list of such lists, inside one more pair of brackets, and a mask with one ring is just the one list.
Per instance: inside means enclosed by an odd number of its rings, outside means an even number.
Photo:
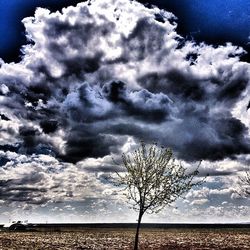
[{"label": "brown stubbly bare field in the foreground on both sides of trunk", "polygon": [[[0,232],[0,249],[132,249],[134,230],[89,229],[72,232]],[[249,229],[143,229],[140,249],[250,249]]]}]

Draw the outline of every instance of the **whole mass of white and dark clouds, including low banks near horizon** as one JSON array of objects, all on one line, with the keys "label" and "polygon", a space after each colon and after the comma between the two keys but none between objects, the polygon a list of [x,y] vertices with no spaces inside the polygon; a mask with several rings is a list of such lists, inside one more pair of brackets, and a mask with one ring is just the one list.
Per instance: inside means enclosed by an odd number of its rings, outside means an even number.
[{"label": "whole mass of white and dark clouds, including low banks near horizon", "polygon": [[205,160],[200,174],[212,181],[188,204],[208,213],[232,204],[225,180],[249,164],[250,67],[242,48],[185,41],[176,22],[127,0],[38,8],[23,20],[21,62],[0,60],[0,200],[116,196],[105,178],[122,169],[111,157],[143,139]]}]

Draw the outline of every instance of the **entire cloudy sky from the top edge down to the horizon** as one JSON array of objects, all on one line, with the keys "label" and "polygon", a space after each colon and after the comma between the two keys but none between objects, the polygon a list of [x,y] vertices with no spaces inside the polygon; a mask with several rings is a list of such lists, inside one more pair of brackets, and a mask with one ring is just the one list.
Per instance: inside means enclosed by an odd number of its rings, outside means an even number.
[{"label": "entire cloudy sky from the top edge down to the horizon", "polygon": [[107,176],[141,140],[209,174],[145,222],[250,221],[248,2],[23,2],[0,3],[0,221],[135,222]]}]

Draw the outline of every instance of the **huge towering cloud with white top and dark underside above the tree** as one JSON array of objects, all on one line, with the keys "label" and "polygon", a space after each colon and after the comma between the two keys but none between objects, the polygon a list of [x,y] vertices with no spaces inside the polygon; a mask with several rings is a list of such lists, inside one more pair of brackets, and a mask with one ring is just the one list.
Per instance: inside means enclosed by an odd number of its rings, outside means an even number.
[{"label": "huge towering cloud with white top and dark underside above the tree", "polygon": [[249,130],[232,115],[249,91],[243,50],[185,42],[173,20],[123,0],[25,19],[32,44],[0,69],[19,152],[76,163],[118,153],[131,136],[188,161],[249,154]]}]

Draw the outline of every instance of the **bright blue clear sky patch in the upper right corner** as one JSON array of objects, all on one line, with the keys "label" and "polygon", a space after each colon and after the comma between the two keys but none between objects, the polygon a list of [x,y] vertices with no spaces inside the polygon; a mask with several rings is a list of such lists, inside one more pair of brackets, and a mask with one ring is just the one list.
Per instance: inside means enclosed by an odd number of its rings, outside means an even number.
[{"label": "bright blue clear sky patch in the upper right corner", "polygon": [[[144,2],[142,0],[142,2]],[[146,1],[145,1],[146,2]],[[231,41],[249,50],[250,2],[245,0],[152,0],[179,18],[179,31],[215,44]]]}]

